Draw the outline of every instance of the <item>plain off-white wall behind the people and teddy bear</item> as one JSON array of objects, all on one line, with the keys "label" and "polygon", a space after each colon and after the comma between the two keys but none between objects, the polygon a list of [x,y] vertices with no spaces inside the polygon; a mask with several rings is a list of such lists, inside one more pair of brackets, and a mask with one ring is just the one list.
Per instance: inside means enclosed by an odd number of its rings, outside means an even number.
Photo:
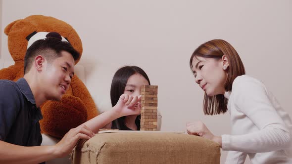
[{"label": "plain off-white wall behind the people and teddy bear", "polygon": [[[187,121],[201,120],[214,134],[230,132],[228,114],[203,115],[203,92],[189,69],[194,49],[212,39],[229,41],[246,73],[265,82],[292,116],[290,0],[4,0],[2,30],[33,14],[66,21],[79,33],[84,47],[80,63],[87,67],[87,86],[95,100],[109,102],[117,68],[142,67],[151,83],[159,85],[162,130],[184,130]],[[11,60],[5,35],[1,52]],[[97,75],[105,65],[110,74]],[[96,82],[104,87],[97,89]],[[222,161],[225,156],[223,152]]]}]

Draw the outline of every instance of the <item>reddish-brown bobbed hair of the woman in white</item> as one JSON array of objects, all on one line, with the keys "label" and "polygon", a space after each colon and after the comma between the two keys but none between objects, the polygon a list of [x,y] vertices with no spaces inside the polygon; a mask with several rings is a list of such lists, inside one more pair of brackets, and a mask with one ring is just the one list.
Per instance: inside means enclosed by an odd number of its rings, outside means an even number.
[{"label": "reddish-brown bobbed hair of the woman in white", "polygon": [[[204,58],[222,59],[225,55],[228,59],[229,67],[226,69],[228,75],[224,88],[226,91],[232,90],[232,83],[236,77],[244,75],[243,62],[234,47],[224,40],[207,41],[198,46],[190,59],[190,68],[193,72],[193,59],[195,56]],[[203,111],[205,115],[221,114],[227,111],[227,99],[222,94],[208,96],[204,95]]]}]

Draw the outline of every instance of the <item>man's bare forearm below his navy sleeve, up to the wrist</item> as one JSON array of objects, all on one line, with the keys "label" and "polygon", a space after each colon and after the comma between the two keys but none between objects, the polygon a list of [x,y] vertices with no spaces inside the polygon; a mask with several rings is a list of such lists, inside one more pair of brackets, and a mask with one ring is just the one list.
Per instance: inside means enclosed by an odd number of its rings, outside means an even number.
[{"label": "man's bare forearm below his navy sleeve, up to the wrist", "polygon": [[39,164],[54,158],[54,146],[25,147],[0,141],[0,164]]}]

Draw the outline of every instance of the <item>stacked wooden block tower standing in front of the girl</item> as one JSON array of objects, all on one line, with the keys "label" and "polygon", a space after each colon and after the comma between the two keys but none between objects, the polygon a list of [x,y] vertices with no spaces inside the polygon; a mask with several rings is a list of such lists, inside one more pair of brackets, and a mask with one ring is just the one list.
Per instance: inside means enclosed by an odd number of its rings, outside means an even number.
[{"label": "stacked wooden block tower standing in front of the girl", "polygon": [[143,85],[141,88],[140,130],[157,130],[157,91],[157,85]]}]

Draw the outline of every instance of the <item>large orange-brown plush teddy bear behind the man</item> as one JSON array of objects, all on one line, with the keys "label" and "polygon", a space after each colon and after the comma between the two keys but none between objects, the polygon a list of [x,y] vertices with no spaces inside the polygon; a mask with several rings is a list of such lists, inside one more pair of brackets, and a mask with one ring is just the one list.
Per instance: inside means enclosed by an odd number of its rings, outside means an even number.
[{"label": "large orange-brown plush teddy bear behind the man", "polygon": [[[82,55],[82,42],[76,31],[64,21],[43,15],[32,15],[10,23],[4,29],[14,65],[0,70],[0,79],[17,81],[24,75],[24,56],[29,39],[38,32],[57,32]],[[80,60],[77,59],[75,64]],[[62,138],[74,128],[98,115],[96,105],[84,83],[74,75],[60,102],[46,101],[41,105],[42,133]]]}]

